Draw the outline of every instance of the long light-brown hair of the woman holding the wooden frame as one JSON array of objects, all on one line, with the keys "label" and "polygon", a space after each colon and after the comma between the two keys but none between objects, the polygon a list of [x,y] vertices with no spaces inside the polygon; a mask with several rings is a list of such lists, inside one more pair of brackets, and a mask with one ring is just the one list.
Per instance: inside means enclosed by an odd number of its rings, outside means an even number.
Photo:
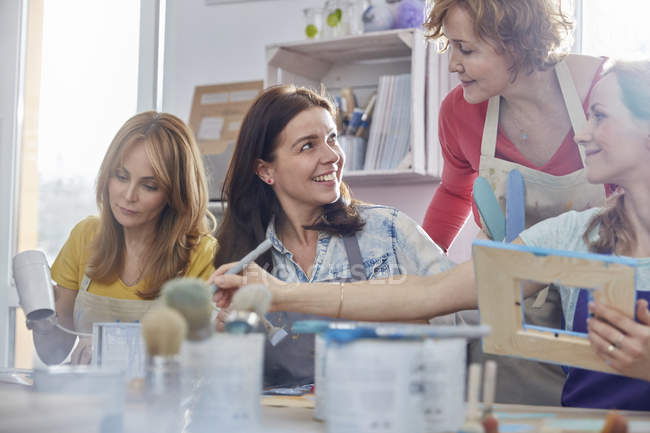
[{"label": "long light-brown hair of the woman holding the wooden frame", "polygon": [[[634,117],[650,122],[650,61],[614,62],[605,74],[614,74],[620,89],[621,100]],[[625,214],[625,191],[610,197],[606,209],[596,215],[583,236],[589,250],[601,254],[630,253],[636,235]],[[590,234],[598,228],[598,239]]]}]

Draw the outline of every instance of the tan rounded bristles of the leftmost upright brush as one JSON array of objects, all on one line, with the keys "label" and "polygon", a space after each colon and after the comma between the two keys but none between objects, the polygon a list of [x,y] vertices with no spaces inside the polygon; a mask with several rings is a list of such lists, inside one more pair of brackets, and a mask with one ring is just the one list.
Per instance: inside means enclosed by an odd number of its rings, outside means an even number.
[{"label": "tan rounded bristles of the leftmost upright brush", "polygon": [[187,323],[178,311],[160,306],[142,318],[141,330],[149,356],[173,356],[180,351]]}]

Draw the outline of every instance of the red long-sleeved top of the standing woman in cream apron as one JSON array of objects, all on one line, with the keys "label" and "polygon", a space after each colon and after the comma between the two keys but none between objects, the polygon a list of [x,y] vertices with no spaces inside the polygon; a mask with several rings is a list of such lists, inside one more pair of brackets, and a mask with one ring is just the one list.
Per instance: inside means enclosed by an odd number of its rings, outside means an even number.
[{"label": "red long-sleeved top of the standing woman in cream apron", "polygon": [[[585,113],[602,67],[601,63],[583,101]],[[447,95],[440,107],[438,134],[444,159],[442,181],[427,208],[422,227],[445,250],[465,223],[470,208],[474,211],[476,223],[479,226],[481,224],[476,204],[472,200],[472,187],[478,176],[487,105],[488,101],[480,104],[465,101],[463,89],[459,85]],[[551,159],[543,166],[537,166],[519,153],[499,127],[495,156],[554,176],[564,176],[582,168],[580,152],[573,136],[571,129]],[[605,190],[609,195],[610,188],[605,187]]]}]

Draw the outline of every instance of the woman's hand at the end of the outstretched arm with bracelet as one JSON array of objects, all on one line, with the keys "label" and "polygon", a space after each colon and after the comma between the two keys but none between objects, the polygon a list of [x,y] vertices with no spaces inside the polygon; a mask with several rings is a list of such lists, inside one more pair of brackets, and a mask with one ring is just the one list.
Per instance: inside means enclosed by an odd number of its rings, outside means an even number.
[{"label": "woman's hand at the end of the outstretched arm with bracelet", "polygon": [[226,272],[237,262],[226,263],[225,265],[219,266],[219,268],[210,275],[208,278],[208,283],[214,283],[219,290],[215,293],[212,298],[219,308],[227,308],[230,306],[232,297],[240,287],[247,286],[249,284],[264,284],[268,286],[271,290],[271,294],[274,295],[281,281],[266,272],[257,263],[251,263],[244,269],[244,275],[228,274]]}]

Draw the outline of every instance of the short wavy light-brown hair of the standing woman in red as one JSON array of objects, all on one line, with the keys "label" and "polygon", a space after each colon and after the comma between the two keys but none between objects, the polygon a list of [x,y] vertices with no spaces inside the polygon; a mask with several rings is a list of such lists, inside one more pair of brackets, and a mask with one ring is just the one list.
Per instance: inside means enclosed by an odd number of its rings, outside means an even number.
[{"label": "short wavy light-brown hair of the standing woman in red", "polygon": [[443,22],[454,6],[469,14],[482,40],[512,55],[513,79],[520,71],[530,74],[553,67],[570,48],[573,22],[561,0],[435,0],[424,28],[427,38],[442,38],[442,51],[449,46]]}]

